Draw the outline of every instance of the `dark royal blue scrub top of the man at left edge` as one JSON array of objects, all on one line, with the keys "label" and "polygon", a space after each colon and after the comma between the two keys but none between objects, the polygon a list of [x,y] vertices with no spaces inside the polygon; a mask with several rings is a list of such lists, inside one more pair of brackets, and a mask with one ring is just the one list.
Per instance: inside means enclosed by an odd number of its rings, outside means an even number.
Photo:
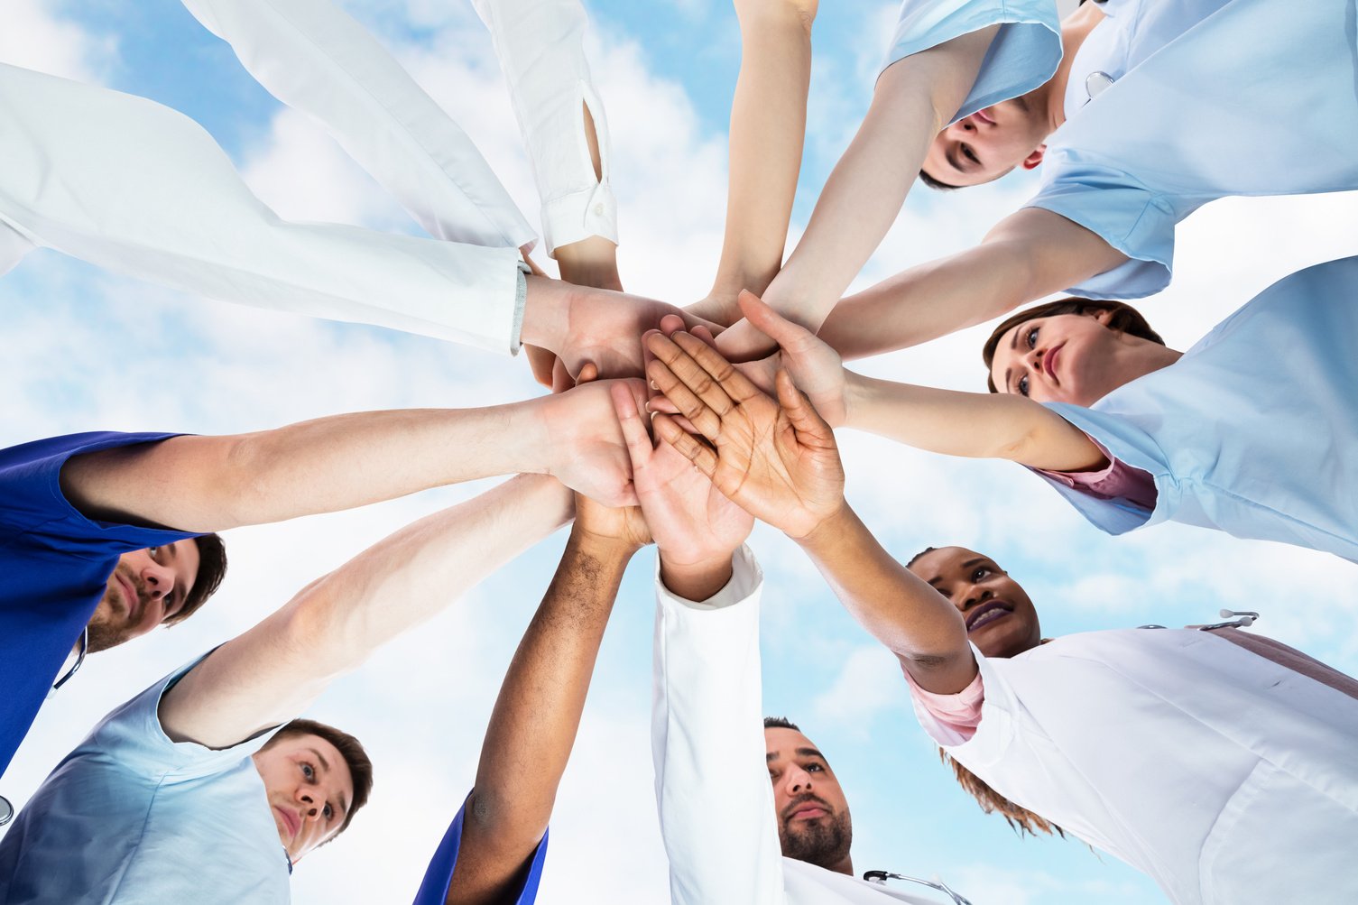
[{"label": "dark royal blue scrub top of the man at left edge", "polygon": [[174,433],[72,433],[0,450],[0,773],[103,598],[118,557],[187,531],[95,522],[61,493],[72,455]]}]

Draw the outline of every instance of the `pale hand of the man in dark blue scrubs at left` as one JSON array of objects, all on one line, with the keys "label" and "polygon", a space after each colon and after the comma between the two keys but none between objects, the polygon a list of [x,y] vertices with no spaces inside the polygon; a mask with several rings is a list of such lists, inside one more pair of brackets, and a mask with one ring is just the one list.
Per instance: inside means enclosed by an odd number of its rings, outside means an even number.
[{"label": "pale hand of the man in dark blue scrubs at left", "polygon": [[[589,380],[595,374],[588,366],[581,376]],[[608,395],[615,385],[631,393],[638,405],[645,400],[645,385],[638,379],[581,383],[543,397],[536,404],[543,431],[539,443],[547,450],[547,473],[572,491],[610,507],[636,505],[631,461]]]}]

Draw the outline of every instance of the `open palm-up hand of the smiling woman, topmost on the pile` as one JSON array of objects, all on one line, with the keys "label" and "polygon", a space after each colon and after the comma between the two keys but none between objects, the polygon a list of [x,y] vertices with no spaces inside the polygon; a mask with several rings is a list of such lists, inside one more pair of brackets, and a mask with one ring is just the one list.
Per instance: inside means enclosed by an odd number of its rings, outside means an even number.
[{"label": "open palm-up hand of the smiling woman, topmost on the pile", "polygon": [[645,342],[656,356],[646,375],[716,448],[667,414],[655,417],[656,433],[718,491],[794,538],[839,508],[845,478],[834,432],[785,370],[777,374],[774,401],[689,333],[652,333]]}]

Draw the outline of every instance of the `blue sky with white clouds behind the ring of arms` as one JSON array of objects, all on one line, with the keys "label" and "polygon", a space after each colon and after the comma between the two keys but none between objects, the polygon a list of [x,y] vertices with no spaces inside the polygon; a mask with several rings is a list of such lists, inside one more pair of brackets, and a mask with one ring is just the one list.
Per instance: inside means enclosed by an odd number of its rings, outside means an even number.
[{"label": "blue sky with white clouds behind the ring of arms", "polygon": [[[96,82],[200,121],[289,219],[416,232],[319,129],[281,109],[174,0],[5,0],[0,60]],[[349,0],[478,143],[530,220],[538,202],[489,41],[463,0]],[[612,133],[625,285],[687,303],[716,266],[725,132],[739,67],[735,16],[714,0],[589,0],[591,56]],[[815,27],[809,128],[793,241],[866,109],[895,4],[826,4]],[[963,249],[1031,193],[1031,177],[949,197],[913,194],[857,287]],[[1173,287],[1143,304],[1175,348],[1282,276],[1354,253],[1358,198],[1228,200],[1179,232]],[[327,413],[473,406],[538,393],[521,361],[433,340],[223,304],[124,280],[56,253],[0,280],[5,355],[0,446],[87,429],[225,433]],[[980,389],[986,330],[861,367]],[[1283,349],[1262,349],[1268,355]],[[1358,671],[1353,565],[1180,526],[1124,538],[1089,527],[1021,469],[949,461],[842,433],[849,497],[902,558],[964,544],[1031,592],[1048,635],[1263,611],[1259,631]],[[232,573],[201,616],[91,659],[49,701],[0,783],[22,804],[110,708],[243,631],[372,541],[483,489],[242,529]],[[500,678],[551,576],[564,535],[526,553],[433,624],[378,654],[314,708],[356,732],[378,768],[373,803],[308,857],[295,901],[409,901],[471,784]],[[839,609],[793,545],[758,529],[765,709],[800,722],[853,806],[854,863],[936,875],[976,905],[1160,901],[1130,868],[1073,840],[1019,840],[957,789],[914,724],[894,658]],[[543,901],[663,902],[648,741],[650,575],[640,553],[604,639],[553,821]],[[212,819],[213,815],[204,815]],[[713,819],[721,819],[714,814]]]}]

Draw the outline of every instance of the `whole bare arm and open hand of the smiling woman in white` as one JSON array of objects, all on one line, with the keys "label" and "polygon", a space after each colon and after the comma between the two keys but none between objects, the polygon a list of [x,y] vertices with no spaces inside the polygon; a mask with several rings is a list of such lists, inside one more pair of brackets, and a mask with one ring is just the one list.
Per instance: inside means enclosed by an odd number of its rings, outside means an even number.
[{"label": "whole bare arm and open hand of the smiling woman in white", "polygon": [[952,694],[976,675],[961,616],[894,560],[843,499],[834,432],[786,371],[777,401],[716,352],[676,333],[649,342],[650,376],[712,447],[667,416],[656,429],[732,500],[785,531],[849,613],[930,692]]}]

